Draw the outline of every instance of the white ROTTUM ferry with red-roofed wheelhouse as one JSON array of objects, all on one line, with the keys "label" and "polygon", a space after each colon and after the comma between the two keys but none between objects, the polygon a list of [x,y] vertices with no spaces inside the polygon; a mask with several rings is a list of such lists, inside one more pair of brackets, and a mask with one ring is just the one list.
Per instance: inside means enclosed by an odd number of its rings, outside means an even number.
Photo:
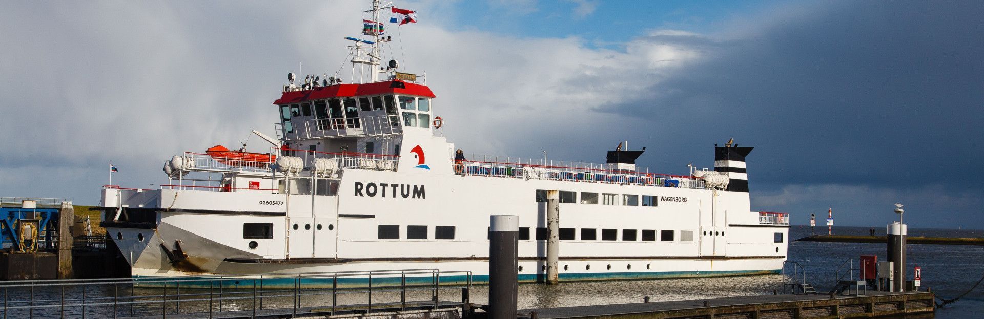
[{"label": "white ROTTUM ferry with red-roofed wheelhouse", "polygon": [[682,175],[637,167],[646,149],[627,142],[604,163],[459,155],[424,77],[383,62],[391,8],[374,1],[367,36],[346,37],[348,83],[288,75],[276,138],[253,131],[269,153],[185,152],[159,189],[103,186],[101,225],[132,276],[438,269],[482,282],[489,216],[517,215],[519,279],[543,280],[551,190],[561,281],[779,272],[788,216],[751,211],[753,148],[714,145],[713,168]]}]

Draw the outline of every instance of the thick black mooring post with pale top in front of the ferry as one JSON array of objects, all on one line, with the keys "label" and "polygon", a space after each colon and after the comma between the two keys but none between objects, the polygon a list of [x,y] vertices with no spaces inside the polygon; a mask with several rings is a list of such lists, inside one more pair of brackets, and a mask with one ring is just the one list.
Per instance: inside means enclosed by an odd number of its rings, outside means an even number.
[{"label": "thick black mooring post with pale top in front of the ferry", "polygon": [[517,318],[520,217],[493,215],[489,241],[489,318]]}]

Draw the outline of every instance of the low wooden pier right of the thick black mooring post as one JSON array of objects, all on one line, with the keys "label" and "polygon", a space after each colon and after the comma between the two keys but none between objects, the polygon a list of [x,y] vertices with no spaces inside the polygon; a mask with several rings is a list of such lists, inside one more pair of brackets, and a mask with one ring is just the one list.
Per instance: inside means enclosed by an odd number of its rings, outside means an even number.
[{"label": "low wooden pier right of the thick black mooring post", "polygon": [[520,310],[521,318],[872,318],[933,313],[932,292],[775,294]]}]

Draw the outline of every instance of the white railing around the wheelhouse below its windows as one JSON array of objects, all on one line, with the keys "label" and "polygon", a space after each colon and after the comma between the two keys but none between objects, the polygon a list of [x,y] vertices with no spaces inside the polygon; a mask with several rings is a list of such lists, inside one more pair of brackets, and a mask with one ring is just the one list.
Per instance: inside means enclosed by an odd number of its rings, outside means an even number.
[{"label": "white railing around the wheelhouse below its windows", "polygon": [[343,136],[377,136],[400,134],[400,116],[377,115],[357,118],[323,118],[291,123],[292,131],[285,132],[281,123],[275,123],[277,138],[311,139]]}]

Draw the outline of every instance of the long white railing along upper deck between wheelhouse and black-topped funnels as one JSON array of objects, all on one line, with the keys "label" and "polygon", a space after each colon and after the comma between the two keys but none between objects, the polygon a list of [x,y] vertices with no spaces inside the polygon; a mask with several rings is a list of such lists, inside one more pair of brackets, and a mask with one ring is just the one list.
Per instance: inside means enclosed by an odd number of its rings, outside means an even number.
[{"label": "long white railing along upper deck between wheelhouse and black-topped funnels", "polygon": [[703,180],[691,176],[610,169],[599,163],[547,161],[549,164],[542,164],[542,160],[475,156],[471,159],[464,160],[461,164],[455,163],[455,172],[494,177],[705,189]]}]

